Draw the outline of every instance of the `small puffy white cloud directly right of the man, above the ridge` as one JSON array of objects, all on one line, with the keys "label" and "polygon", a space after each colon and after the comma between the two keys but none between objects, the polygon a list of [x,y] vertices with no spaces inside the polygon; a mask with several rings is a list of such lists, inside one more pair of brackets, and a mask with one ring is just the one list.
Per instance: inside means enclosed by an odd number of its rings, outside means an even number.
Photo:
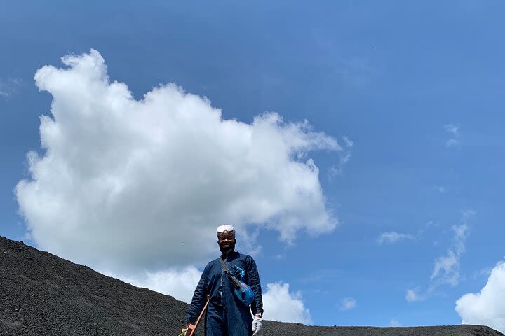
[{"label": "small puffy white cloud directly right of the man, above the ridge", "polygon": [[264,318],[270,321],[312,324],[309,309],[304,307],[302,294],[290,293],[289,283],[268,283],[263,294]]}]

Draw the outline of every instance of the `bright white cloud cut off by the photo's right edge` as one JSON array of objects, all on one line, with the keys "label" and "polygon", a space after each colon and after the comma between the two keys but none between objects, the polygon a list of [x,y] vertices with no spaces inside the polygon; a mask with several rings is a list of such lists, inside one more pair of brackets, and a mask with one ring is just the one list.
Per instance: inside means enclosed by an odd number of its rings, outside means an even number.
[{"label": "bright white cloud cut off by the photo's right edge", "polygon": [[492,269],[479,293],[460,297],[454,309],[462,324],[487,325],[505,332],[505,263],[499,262]]}]

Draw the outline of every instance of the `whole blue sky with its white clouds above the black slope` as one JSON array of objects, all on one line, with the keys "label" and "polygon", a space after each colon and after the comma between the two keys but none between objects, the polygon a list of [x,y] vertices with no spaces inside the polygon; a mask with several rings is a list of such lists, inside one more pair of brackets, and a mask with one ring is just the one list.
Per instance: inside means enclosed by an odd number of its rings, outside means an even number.
[{"label": "whole blue sky with its white clouds above the black slope", "polygon": [[[265,319],[505,332],[501,1],[6,1],[0,235]],[[287,308],[288,307],[288,308]]]}]

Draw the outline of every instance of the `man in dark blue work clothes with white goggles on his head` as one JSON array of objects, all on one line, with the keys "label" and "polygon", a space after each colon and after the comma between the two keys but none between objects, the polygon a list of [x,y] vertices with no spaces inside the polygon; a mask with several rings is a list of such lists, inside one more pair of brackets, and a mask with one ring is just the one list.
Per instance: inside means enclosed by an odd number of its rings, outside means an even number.
[{"label": "man in dark blue work clothes with white goggles on his head", "polygon": [[[217,244],[222,255],[203,269],[186,314],[187,326],[196,322],[208,298],[207,336],[257,335],[262,328],[263,302],[256,263],[250,255],[235,251],[235,229],[231,225],[217,228]],[[234,275],[242,277],[241,280],[253,290],[254,300],[250,306],[246,306],[234,295],[234,285],[220,259],[228,269],[234,269]]]}]

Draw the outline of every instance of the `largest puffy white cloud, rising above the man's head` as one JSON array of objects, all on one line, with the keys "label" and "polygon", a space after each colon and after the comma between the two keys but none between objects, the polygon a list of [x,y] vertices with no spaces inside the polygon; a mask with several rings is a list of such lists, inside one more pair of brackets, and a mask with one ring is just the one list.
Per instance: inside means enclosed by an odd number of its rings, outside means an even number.
[{"label": "largest puffy white cloud, rising above the man's head", "polygon": [[288,243],[299,230],[337,225],[306,155],[342,148],[307,121],[224,120],[175,85],[136,101],[109,81],[99,52],[62,62],[36,72],[39,90],[53,96],[52,116],[41,117],[43,153],[27,155],[31,179],[15,188],[40,248],[97,269],[156,274],[208,261],[222,223],[235,225],[245,246],[251,225]]}]

